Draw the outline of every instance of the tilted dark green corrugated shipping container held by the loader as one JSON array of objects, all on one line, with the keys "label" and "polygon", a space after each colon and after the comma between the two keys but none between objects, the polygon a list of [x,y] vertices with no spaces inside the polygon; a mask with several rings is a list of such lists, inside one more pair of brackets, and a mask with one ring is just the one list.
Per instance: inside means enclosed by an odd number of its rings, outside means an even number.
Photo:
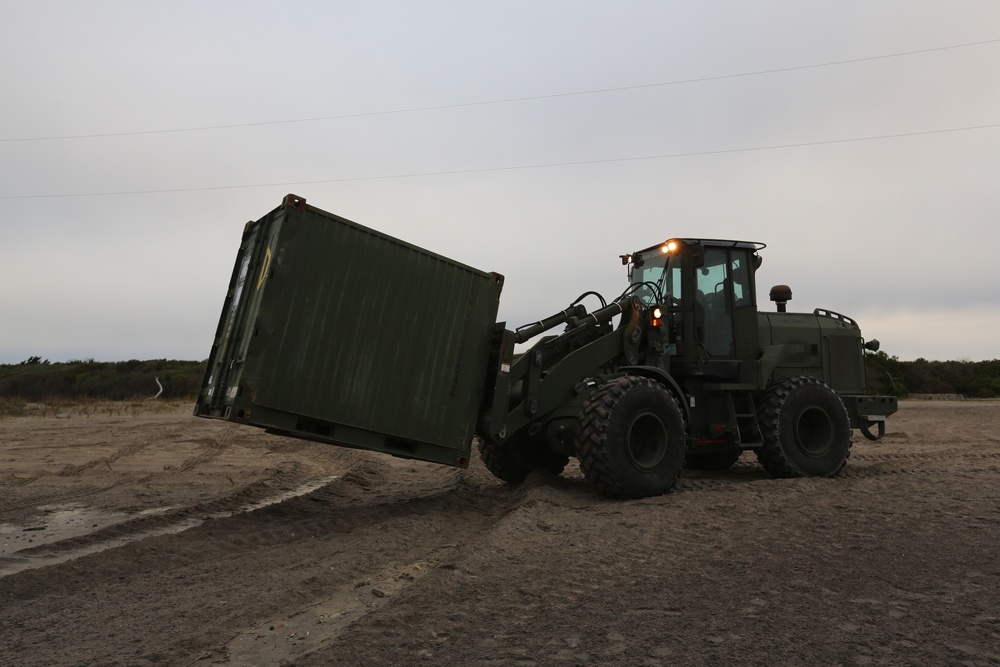
[{"label": "tilted dark green corrugated shipping container held by the loader", "polygon": [[467,466],[502,287],[288,195],[244,228],[195,414]]}]

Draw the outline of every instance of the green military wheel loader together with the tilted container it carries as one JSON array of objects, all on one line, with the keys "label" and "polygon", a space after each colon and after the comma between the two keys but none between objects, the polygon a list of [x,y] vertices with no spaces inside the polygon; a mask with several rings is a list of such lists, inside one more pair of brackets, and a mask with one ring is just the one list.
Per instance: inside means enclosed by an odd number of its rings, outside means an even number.
[{"label": "green military wheel loader together with the tilted container it carries", "polygon": [[671,238],[621,256],[611,301],[508,329],[500,274],[288,195],[244,227],[195,414],[458,467],[476,442],[510,483],[576,457],[618,498],[746,450],[776,477],[833,476],[896,399],[869,394],[878,341],[850,317],[787,312],[785,285],[758,310],[764,247]]}]

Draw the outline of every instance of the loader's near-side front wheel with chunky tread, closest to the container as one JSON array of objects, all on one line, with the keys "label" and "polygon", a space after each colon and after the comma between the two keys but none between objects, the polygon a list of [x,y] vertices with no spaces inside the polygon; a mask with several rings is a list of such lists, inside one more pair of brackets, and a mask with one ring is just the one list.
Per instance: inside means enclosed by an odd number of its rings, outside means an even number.
[{"label": "loader's near-side front wheel with chunky tread, closest to the container", "polygon": [[580,412],[580,469],[594,488],[612,498],[669,491],[684,464],[686,444],[677,401],[649,378],[611,380]]}]

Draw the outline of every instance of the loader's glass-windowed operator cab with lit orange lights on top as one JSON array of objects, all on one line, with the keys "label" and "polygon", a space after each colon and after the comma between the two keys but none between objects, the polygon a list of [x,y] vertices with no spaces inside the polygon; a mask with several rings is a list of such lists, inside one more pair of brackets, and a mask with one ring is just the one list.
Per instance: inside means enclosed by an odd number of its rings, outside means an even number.
[{"label": "loader's glass-windowed operator cab with lit orange lights on top", "polygon": [[670,239],[622,255],[643,306],[667,306],[672,356],[741,358],[736,332],[755,329],[754,272],[763,243]]}]

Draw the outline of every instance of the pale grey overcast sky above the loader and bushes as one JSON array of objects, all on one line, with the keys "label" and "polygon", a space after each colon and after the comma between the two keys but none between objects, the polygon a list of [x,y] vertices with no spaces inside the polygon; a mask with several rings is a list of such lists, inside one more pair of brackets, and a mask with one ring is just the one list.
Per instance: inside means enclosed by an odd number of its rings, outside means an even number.
[{"label": "pale grey overcast sky above the loader and bushes", "polygon": [[206,358],[289,192],[504,274],[511,325],[736,238],[762,309],[1000,357],[995,0],[3,1],[0,58],[0,363]]}]

